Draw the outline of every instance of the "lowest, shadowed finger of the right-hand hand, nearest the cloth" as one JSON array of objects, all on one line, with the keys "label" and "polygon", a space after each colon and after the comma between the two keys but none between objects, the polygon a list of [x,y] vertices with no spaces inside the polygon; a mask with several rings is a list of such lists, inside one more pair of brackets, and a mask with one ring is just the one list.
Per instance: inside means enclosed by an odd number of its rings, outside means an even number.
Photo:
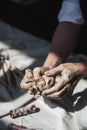
[{"label": "lowest, shadowed finger of the right-hand hand, nearest the cloth", "polygon": [[46,95],[48,98],[57,98],[57,99],[62,99],[63,96],[68,92],[68,88],[70,87],[70,84],[67,84],[62,88],[60,91]]}]

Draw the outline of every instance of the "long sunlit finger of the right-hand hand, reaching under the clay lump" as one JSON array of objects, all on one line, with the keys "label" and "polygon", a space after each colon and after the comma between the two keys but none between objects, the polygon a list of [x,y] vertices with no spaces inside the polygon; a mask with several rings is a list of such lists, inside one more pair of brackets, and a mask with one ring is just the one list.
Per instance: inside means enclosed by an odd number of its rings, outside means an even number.
[{"label": "long sunlit finger of the right-hand hand, reaching under the clay lump", "polygon": [[63,88],[63,86],[66,84],[66,82],[61,78],[60,82],[56,83],[52,88],[49,88],[47,90],[44,90],[42,92],[42,95],[48,95],[51,93],[54,93],[56,91],[59,91]]}]

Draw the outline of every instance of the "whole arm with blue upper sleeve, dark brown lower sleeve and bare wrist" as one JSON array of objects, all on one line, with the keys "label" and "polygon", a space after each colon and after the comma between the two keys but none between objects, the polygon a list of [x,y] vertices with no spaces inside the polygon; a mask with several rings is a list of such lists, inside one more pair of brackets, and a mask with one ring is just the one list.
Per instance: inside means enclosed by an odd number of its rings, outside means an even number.
[{"label": "whole arm with blue upper sleeve, dark brown lower sleeve and bare wrist", "polygon": [[62,63],[76,45],[80,26],[84,23],[79,0],[64,0],[58,20],[59,25],[54,32],[50,52],[43,64],[49,68]]}]

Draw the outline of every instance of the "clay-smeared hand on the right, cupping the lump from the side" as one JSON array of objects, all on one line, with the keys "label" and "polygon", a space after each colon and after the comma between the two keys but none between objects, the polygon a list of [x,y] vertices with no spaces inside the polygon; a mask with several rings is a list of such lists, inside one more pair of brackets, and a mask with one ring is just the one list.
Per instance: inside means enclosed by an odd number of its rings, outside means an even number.
[{"label": "clay-smeared hand on the right, cupping the lump from the side", "polygon": [[53,87],[44,90],[42,95],[49,98],[63,98],[72,89],[72,86],[75,85],[75,81],[78,81],[79,65],[77,63],[61,64],[56,68],[46,71],[44,74],[54,77],[60,74],[61,78],[55,82]]}]

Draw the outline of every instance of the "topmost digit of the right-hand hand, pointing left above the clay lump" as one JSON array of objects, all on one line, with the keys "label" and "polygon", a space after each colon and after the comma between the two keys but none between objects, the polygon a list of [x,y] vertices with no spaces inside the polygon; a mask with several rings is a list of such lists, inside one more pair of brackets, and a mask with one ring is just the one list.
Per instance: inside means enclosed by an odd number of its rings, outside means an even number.
[{"label": "topmost digit of the right-hand hand, pointing left above the clay lump", "polygon": [[54,76],[57,75],[59,73],[61,73],[63,71],[64,66],[61,64],[53,69],[50,69],[48,71],[45,72],[45,75],[47,76]]}]

